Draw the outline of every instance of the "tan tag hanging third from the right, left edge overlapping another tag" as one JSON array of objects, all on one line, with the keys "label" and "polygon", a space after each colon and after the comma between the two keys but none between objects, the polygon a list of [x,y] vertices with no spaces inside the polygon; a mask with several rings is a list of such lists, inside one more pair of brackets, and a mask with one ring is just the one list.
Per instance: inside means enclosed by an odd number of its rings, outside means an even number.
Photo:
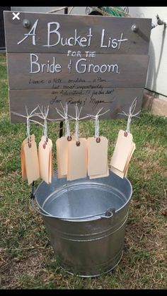
[{"label": "tan tag hanging third from the right, left edge overlapping another tag", "polygon": [[87,177],[87,141],[79,141],[80,146],[76,146],[76,141],[68,141],[68,181]]}]

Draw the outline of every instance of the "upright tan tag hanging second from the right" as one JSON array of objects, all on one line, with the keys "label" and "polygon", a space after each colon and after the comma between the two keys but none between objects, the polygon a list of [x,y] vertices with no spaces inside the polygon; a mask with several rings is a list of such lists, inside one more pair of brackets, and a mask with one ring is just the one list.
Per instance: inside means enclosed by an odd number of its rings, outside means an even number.
[{"label": "upright tan tag hanging second from the right", "polygon": [[108,139],[100,136],[100,142],[95,137],[88,138],[88,176],[92,178],[108,176]]}]

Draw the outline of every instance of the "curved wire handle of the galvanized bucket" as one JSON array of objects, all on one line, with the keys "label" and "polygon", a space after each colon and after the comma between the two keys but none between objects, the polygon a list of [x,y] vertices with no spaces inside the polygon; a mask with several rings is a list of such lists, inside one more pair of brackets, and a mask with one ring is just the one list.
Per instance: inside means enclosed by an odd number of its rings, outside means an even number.
[{"label": "curved wire handle of the galvanized bucket", "polygon": [[108,208],[107,211],[105,211],[105,213],[100,213],[100,214],[96,214],[96,215],[87,215],[86,217],[79,217],[79,218],[66,218],[66,217],[58,217],[58,216],[53,216],[53,215],[49,215],[47,213],[42,213],[42,211],[39,211],[38,208],[35,207],[34,204],[34,200],[35,200],[35,194],[34,194],[34,182],[32,184],[32,191],[30,194],[30,203],[31,206],[33,207],[33,209],[40,215],[45,216],[45,217],[50,217],[50,218],[59,218],[62,220],[82,220],[82,219],[86,219],[86,218],[93,218],[93,217],[98,217],[100,216],[100,218],[113,218],[115,215],[115,208]]}]

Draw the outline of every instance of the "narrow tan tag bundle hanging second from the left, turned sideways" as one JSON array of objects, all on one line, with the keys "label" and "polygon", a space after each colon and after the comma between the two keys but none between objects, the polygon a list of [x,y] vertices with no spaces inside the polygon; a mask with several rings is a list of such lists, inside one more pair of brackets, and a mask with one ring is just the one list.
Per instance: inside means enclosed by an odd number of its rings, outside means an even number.
[{"label": "narrow tan tag bundle hanging second from the left, turned sideways", "polygon": [[52,182],[52,140],[42,136],[38,146],[38,158],[40,165],[40,177],[47,183]]}]

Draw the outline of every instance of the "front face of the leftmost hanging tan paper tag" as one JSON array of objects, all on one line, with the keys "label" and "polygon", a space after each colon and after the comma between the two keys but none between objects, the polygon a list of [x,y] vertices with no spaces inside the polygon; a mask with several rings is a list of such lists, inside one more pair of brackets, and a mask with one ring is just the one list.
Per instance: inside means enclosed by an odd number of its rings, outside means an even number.
[{"label": "front face of the leftmost hanging tan paper tag", "polygon": [[28,185],[40,178],[37,145],[35,140],[31,140],[30,143],[31,147],[28,146],[28,140],[26,139],[24,145],[25,168]]}]

